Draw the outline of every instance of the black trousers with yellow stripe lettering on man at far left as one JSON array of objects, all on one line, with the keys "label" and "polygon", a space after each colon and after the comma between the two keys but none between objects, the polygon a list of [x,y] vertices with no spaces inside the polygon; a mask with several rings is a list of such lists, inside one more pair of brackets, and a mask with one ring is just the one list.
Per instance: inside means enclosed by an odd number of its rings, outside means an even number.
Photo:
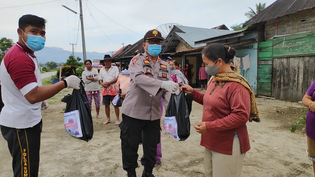
[{"label": "black trousers with yellow stripe lettering on man at far left", "polygon": [[12,156],[14,177],[38,177],[42,121],[35,126],[16,129],[0,125]]}]

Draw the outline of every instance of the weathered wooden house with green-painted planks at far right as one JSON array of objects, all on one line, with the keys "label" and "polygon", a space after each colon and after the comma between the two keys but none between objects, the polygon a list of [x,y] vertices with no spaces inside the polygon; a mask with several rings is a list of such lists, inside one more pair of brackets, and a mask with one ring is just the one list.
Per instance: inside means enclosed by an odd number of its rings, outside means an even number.
[{"label": "weathered wooden house with green-painted planks at far right", "polygon": [[315,80],[315,1],[277,0],[243,26],[258,34],[257,93],[301,101]]}]

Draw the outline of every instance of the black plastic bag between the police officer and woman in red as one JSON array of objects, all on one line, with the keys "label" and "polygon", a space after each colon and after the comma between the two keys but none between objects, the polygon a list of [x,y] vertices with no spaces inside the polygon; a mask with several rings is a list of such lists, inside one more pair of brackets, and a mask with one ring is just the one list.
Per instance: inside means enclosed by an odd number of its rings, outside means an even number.
[{"label": "black plastic bag between the police officer and woman in red", "polygon": [[166,133],[173,136],[176,140],[184,141],[190,135],[190,120],[193,95],[185,95],[184,91],[180,94],[172,94],[167,105],[163,127]]}]

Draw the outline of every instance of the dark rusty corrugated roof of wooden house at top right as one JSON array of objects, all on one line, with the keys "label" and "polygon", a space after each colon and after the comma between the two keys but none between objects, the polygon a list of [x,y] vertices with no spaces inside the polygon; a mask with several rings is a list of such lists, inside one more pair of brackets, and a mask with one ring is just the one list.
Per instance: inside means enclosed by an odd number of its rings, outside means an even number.
[{"label": "dark rusty corrugated roof of wooden house at top right", "polygon": [[277,0],[243,24],[253,25],[315,7],[315,0]]}]

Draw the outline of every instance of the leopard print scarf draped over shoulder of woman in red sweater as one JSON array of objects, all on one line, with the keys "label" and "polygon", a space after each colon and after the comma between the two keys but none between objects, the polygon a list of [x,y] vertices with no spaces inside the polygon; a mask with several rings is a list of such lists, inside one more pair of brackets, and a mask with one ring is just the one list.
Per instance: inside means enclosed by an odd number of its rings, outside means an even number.
[{"label": "leopard print scarf draped over shoulder of woman in red sweater", "polygon": [[255,94],[252,91],[252,87],[250,86],[250,84],[242,75],[236,72],[226,72],[222,74],[217,74],[215,75],[214,80],[212,82],[216,83],[213,89],[211,90],[210,94],[213,93],[213,91],[217,88],[219,84],[221,85],[221,87],[223,87],[226,82],[238,82],[242,84],[246,89],[248,89],[251,93],[251,114],[249,121],[252,122],[253,120],[255,122],[260,122]]}]

